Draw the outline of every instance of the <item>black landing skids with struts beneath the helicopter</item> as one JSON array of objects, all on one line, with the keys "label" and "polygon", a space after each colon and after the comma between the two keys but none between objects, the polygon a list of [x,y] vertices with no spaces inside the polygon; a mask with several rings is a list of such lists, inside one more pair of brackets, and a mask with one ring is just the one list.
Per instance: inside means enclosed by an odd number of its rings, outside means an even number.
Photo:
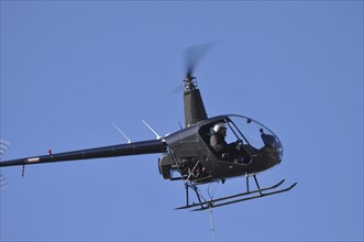
[{"label": "black landing skids with struts beneath the helicopter", "polygon": [[[257,183],[255,175],[253,177],[256,183],[256,187],[257,187],[256,190],[252,190],[252,191],[249,190],[249,177],[246,177],[246,188],[247,188],[246,193],[236,194],[236,195],[217,198],[217,199],[211,199],[211,200],[205,200],[205,201],[201,201],[201,196],[200,196],[196,185],[192,185],[190,187],[195,190],[196,196],[199,200],[199,202],[192,204],[192,205],[188,204],[188,187],[186,186],[187,205],[184,207],[176,208],[176,209],[189,209],[189,208],[200,207],[200,208],[192,209],[191,211],[201,211],[201,210],[206,210],[206,209],[217,208],[217,207],[221,207],[221,206],[225,206],[225,205],[231,205],[231,204],[235,204],[235,202],[241,202],[241,201],[245,201],[245,200],[252,200],[252,199],[267,197],[267,196],[275,195],[275,194],[285,193],[285,191],[290,190],[291,188],[294,188],[297,185],[297,183],[295,183],[287,188],[284,188],[280,190],[274,190],[275,188],[279,187],[285,182],[285,179],[283,179],[279,183],[277,183],[271,187],[260,188],[260,185]],[[263,193],[263,191],[268,191],[268,193]],[[249,196],[249,195],[254,195],[254,194],[258,194],[258,195]]]}]

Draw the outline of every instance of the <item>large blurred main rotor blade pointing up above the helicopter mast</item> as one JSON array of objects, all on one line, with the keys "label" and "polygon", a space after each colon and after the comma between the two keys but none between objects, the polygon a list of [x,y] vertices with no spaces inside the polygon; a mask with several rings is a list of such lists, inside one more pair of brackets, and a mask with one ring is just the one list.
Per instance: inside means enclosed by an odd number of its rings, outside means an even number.
[{"label": "large blurred main rotor blade pointing up above the helicopter mast", "polygon": [[185,63],[186,63],[186,76],[191,77],[198,63],[206,56],[210,51],[213,43],[195,45],[186,48],[185,51]]}]

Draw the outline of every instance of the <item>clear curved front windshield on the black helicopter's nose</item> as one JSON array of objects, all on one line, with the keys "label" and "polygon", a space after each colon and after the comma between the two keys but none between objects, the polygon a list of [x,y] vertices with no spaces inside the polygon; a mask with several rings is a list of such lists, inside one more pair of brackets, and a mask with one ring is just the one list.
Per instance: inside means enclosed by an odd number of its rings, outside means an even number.
[{"label": "clear curved front windshield on the black helicopter's nose", "polygon": [[268,148],[278,155],[279,161],[282,160],[282,143],[269,129],[242,116],[228,116],[224,121],[229,127],[227,142],[241,140],[254,150]]}]

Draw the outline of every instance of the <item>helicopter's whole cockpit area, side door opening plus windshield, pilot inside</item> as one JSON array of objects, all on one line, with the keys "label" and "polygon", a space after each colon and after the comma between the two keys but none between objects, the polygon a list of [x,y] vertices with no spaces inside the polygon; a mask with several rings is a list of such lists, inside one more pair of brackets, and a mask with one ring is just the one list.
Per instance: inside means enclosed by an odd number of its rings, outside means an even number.
[{"label": "helicopter's whole cockpit area, side door opening plus windshield, pilot inside", "polygon": [[222,161],[249,164],[254,156],[277,163],[283,157],[278,138],[263,124],[246,117],[221,117],[201,127],[199,133],[214,156]]}]

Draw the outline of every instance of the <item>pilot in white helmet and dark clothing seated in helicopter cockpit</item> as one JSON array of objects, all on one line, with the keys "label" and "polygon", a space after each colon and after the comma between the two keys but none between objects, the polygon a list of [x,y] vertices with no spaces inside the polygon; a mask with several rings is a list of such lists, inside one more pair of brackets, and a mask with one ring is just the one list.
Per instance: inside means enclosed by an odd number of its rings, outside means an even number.
[{"label": "pilot in white helmet and dark clothing seated in helicopter cockpit", "polygon": [[241,148],[240,142],[233,142],[228,144],[225,142],[227,136],[227,125],[223,122],[219,122],[213,127],[213,133],[210,138],[210,145],[218,153],[219,157],[222,160],[232,160],[239,156],[239,151]]}]

